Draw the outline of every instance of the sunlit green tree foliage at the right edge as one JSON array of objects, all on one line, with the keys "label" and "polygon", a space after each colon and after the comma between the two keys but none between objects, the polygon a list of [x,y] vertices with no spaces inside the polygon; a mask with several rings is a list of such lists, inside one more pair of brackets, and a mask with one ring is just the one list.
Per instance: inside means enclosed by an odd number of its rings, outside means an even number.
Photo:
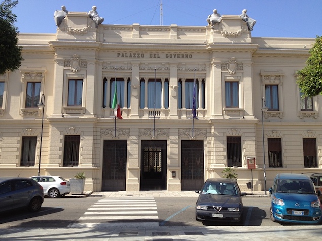
[{"label": "sunlit green tree foliage at the right edge", "polygon": [[322,37],[316,36],[306,66],[297,72],[297,84],[304,97],[322,94]]}]

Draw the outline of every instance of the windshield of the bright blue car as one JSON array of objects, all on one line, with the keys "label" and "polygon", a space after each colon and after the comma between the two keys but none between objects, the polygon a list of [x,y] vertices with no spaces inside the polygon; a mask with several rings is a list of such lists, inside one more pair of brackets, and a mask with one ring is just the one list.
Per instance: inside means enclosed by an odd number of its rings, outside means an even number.
[{"label": "windshield of the bright blue car", "polygon": [[279,179],[277,192],[315,194],[315,189],[308,180]]}]

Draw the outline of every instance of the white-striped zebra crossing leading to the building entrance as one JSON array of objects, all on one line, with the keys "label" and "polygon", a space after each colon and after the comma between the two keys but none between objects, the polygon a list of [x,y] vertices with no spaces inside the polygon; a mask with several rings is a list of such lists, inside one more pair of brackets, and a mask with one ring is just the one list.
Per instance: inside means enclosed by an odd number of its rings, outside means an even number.
[{"label": "white-striped zebra crossing leading to the building entrance", "polygon": [[158,226],[157,204],[153,197],[144,198],[103,198],[89,207],[77,223],[71,227],[93,226],[98,223],[109,223],[116,226],[120,223],[142,222]]}]

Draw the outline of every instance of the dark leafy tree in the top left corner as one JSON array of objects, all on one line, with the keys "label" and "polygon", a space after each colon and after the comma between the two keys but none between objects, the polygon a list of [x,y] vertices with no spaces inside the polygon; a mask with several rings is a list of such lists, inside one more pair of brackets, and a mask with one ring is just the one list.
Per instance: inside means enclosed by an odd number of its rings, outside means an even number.
[{"label": "dark leafy tree in the top left corner", "polygon": [[12,13],[12,8],[18,1],[4,0],[0,3],[0,74],[6,71],[15,71],[23,60],[22,47],[18,46],[18,28],[14,23],[17,16]]}]

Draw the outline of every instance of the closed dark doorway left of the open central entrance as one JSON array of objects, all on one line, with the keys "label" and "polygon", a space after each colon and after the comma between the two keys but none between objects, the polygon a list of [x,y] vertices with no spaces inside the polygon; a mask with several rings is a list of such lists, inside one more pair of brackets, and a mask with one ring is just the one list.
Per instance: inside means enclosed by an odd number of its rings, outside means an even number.
[{"label": "closed dark doorway left of the open central entrance", "polygon": [[102,191],[125,191],[127,140],[104,140]]}]

